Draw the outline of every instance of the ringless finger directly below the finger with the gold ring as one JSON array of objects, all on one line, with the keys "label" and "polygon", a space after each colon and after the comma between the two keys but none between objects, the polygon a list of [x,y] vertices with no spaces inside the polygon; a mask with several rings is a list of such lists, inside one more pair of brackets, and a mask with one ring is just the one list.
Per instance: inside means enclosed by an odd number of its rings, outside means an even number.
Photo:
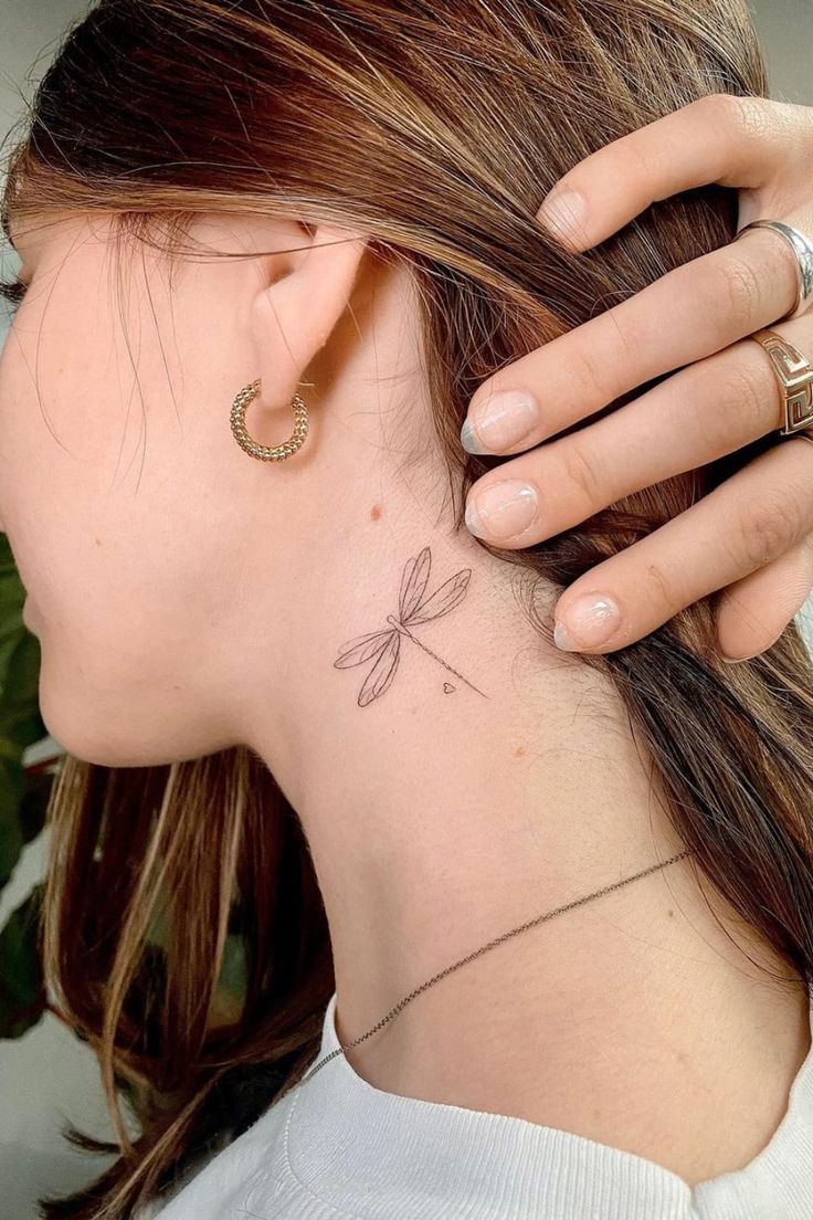
[{"label": "ringless finger directly below the finger with the gold ring", "polygon": [[574,582],[556,605],[556,644],[612,651],[685,606],[773,562],[813,531],[813,447],[787,440],[697,504]]}]

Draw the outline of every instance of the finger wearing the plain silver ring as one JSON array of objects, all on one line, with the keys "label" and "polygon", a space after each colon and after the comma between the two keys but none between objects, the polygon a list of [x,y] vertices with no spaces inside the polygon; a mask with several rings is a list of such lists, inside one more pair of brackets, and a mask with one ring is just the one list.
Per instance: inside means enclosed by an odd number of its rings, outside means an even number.
[{"label": "finger wearing the plain silver ring", "polygon": [[790,245],[753,229],[501,368],[478,387],[461,440],[470,453],[520,453],[636,386],[770,326],[790,312],[796,293]]}]

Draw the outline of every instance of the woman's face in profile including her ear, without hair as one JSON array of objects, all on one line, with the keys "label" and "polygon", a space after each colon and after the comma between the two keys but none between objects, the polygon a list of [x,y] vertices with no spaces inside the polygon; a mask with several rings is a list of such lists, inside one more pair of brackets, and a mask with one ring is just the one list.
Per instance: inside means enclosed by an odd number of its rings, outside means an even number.
[{"label": "woman's face in profile including her ear, without hair", "polygon": [[[45,721],[106,765],[251,739],[252,695],[273,698],[294,603],[361,514],[346,495],[341,511],[343,492],[372,458],[352,420],[375,393],[373,336],[352,326],[374,322],[382,274],[364,242],[238,214],[202,214],[189,232],[218,256],[168,267],[117,249],[105,212],[12,221],[30,287],[0,361],[1,523],[43,644]],[[413,310],[400,301],[396,336],[392,287],[375,356],[394,372],[413,348]],[[267,443],[290,434],[297,383],[314,382],[296,464],[234,443],[232,400],[255,377],[249,425]]]}]

